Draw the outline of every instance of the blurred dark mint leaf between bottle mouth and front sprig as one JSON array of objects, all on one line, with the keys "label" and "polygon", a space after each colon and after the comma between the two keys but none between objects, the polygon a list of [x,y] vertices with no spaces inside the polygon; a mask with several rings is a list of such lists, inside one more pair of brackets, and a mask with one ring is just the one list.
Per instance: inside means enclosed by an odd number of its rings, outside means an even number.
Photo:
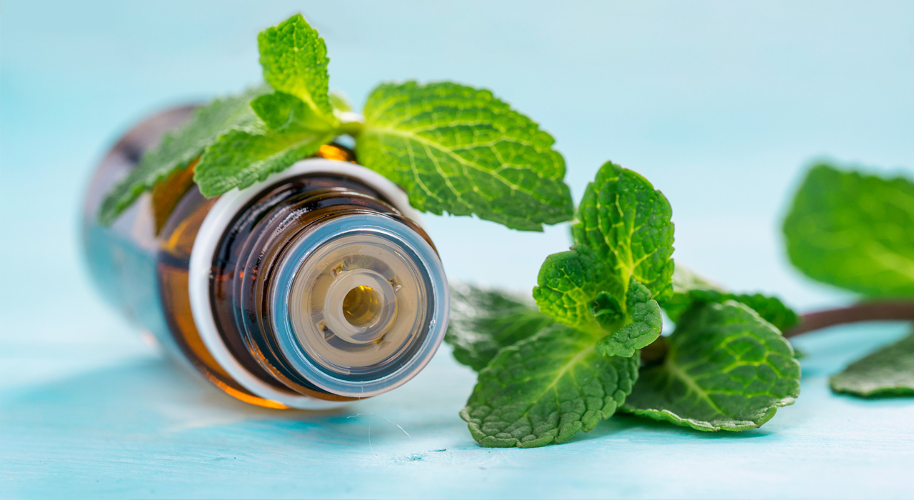
[{"label": "blurred dark mint leaf between bottle mouth and front sprig", "polygon": [[501,290],[451,285],[451,320],[444,341],[457,361],[479,371],[499,349],[555,323],[530,299]]}]

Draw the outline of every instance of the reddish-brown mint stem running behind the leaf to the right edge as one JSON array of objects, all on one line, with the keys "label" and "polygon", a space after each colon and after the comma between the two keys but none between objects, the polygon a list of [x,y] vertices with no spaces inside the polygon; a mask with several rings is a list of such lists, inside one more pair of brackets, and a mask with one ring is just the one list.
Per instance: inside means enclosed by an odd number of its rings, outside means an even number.
[{"label": "reddish-brown mint stem running behind the leaf to the right edge", "polygon": [[[838,324],[862,323],[865,321],[914,321],[914,302],[879,301],[855,303],[846,307],[825,309],[802,314],[800,323],[784,332],[785,337],[808,334]],[[641,350],[642,363],[653,365],[664,360],[669,345],[661,336],[650,346]]]}]

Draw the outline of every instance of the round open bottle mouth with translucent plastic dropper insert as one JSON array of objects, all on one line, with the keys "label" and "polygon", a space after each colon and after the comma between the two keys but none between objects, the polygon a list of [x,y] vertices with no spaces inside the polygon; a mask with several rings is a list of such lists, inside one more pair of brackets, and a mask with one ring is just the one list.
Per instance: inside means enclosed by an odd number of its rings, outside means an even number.
[{"label": "round open bottle mouth with translucent plastic dropper insert", "polygon": [[277,345],[314,386],[368,397],[413,378],[447,327],[438,254],[384,215],[330,218],[284,250],[269,302]]}]

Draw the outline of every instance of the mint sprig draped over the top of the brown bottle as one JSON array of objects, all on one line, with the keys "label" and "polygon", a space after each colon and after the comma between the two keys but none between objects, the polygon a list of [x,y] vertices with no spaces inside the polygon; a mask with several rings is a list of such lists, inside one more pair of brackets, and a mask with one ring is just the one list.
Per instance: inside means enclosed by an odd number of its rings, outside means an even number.
[{"label": "mint sprig draped over the top of the brown bottle", "polygon": [[402,186],[420,210],[475,214],[523,230],[571,218],[565,161],[554,140],[492,92],[451,82],[385,83],[372,91],[363,119],[328,92],[324,39],[302,15],[263,30],[258,46],[268,86],[216,101],[167,135],[108,194],[102,223],[195,159],[200,192],[217,197],[282,171],[341,134],[356,137],[359,162]]}]

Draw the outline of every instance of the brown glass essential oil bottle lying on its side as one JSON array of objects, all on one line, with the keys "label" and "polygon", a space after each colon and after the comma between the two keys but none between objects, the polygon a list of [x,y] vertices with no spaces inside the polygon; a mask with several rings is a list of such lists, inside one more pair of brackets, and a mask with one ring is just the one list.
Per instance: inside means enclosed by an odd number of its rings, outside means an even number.
[{"label": "brown glass essential oil bottle lying on its side", "polygon": [[139,123],[92,177],[83,242],[106,300],[264,407],[332,408],[419,373],[447,327],[441,260],[406,194],[341,145],[209,199],[192,162],[99,224],[109,189],[192,113]]}]

